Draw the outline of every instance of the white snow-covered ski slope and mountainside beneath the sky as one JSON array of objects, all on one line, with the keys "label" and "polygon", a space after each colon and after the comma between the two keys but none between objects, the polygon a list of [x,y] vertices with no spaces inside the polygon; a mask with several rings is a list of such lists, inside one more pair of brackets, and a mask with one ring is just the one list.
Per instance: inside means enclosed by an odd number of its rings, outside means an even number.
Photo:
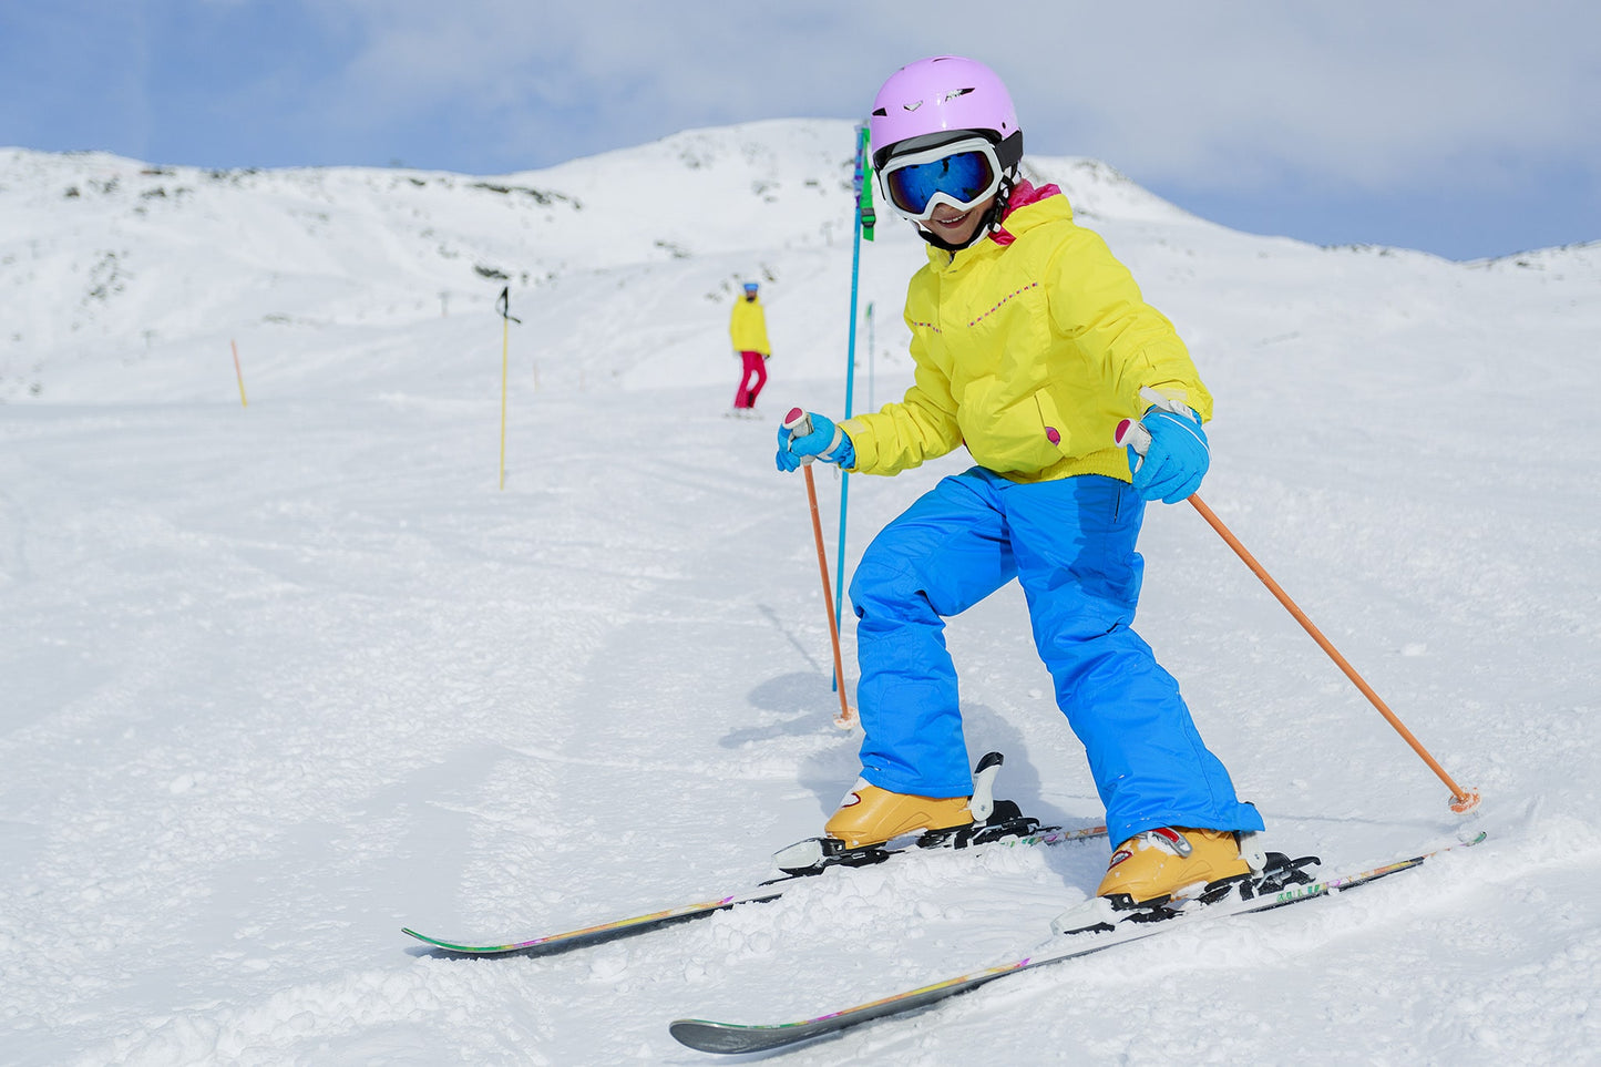
[{"label": "white snow-covered ski slope and mountainside beneath the sky", "polygon": [[[855,775],[802,484],[772,418],[724,415],[752,276],[767,415],[842,405],[850,149],[849,123],[772,122],[492,178],[0,151],[0,1059],[708,1062],[669,1019],[994,963],[1093,891],[1087,846],[917,857],[564,958],[399,932],[724,896]],[[1585,1062],[1601,250],[1324,250],[1029,165],[1191,341],[1202,495],[1492,836],[788,1062]],[[892,219],[863,245],[857,407],[869,362],[876,402],[906,383],[921,256]],[[961,466],[853,479],[847,566]],[[1270,848],[1359,868],[1452,840],[1444,787],[1193,509],[1150,511],[1143,548],[1142,633]],[[948,636],[1001,793],[1098,820],[1017,590]]]}]

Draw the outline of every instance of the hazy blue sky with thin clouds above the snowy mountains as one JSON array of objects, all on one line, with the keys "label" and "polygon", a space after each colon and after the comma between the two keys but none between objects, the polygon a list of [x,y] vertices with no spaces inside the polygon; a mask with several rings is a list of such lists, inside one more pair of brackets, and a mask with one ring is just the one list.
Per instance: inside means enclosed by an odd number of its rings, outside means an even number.
[{"label": "hazy blue sky with thin clouds above the snowy mountains", "polygon": [[1034,6],[0,0],[0,144],[509,173],[860,117],[895,67],[954,51],[1007,80],[1029,151],[1236,229],[1455,260],[1601,240],[1596,5]]}]

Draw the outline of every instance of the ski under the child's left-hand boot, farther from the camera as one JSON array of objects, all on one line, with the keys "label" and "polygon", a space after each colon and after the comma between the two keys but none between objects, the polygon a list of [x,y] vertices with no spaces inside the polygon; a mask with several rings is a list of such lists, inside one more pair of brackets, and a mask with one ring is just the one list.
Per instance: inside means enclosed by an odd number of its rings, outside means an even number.
[{"label": "ski under the child's left-hand boot, farther from the camera", "polygon": [[[1005,801],[1001,801],[1005,803]],[[1082,827],[1077,830],[1065,830],[1061,827],[1042,827],[1033,833],[1023,833],[1018,836],[1007,836],[997,841],[978,841],[972,844],[961,846],[962,852],[981,852],[991,848],[1031,848],[1041,844],[1065,844],[1069,841],[1089,841],[1092,838],[1101,838],[1106,835],[1106,827]],[[929,849],[954,849],[956,844],[937,844],[937,846],[917,846],[909,844],[901,849],[882,849],[877,848],[871,854],[858,851],[855,854],[857,862],[844,862],[837,865],[860,867],[865,864],[881,864],[895,856],[906,856],[911,852],[921,852]],[[866,857],[866,859],[865,859]],[[831,864],[834,865],[834,864]],[[679,923],[692,923],[700,918],[706,918],[717,912],[725,912],[728,908],[736,908],[743,904],[765,904],[768,900],[776,900],[784,894],[783,888],[789,883],[815,878],[815,873],[796,873],[776,878],[751,892],[735,894],[730,897],[720,897],[717,900],[700,900],[695,904],[684,904],[674,908],[666,908],[661,912],[650,912],[647,915],[634,915],[631,918],[613,920],[610,923],[600,923],[597,926],[584,926],[581,929],[570,929],[559,934],[548,934],[544,937],[535,937],[532,940],[519,940],[512,944],[501,945],[484,945],[484,944],[461,944],[455,940],[443,940],[439,937],[431,937],[429,934],[418,932],[411,928],[402,928],[402,932],[416,937],[418,940],[434,947],[442,955],[450,956],[546,956],[557,955],[562,952],[572,952],[575,948],[588,948],[591,945],[600,945],[608,940],[616,940],[620,937],[634,937],[637,934],[648,934],[652,931],[664,929],[668,926],[677,926]]]}]

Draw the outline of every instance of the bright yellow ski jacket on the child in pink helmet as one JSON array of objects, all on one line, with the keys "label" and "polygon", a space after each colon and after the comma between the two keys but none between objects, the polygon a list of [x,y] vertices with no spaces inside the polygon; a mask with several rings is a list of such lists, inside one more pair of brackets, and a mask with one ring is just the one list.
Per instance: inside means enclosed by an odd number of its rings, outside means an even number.
[{"label": "bright yellow ski jacket on the child in pink helmet", "polygon": [[914,385],[842,423],[855,471],[895,474],[965,444],[1015,482],[1129,481],[1113,434],[1150,407],[1142,388],[1212,418],[1172,322],[1055,186],[1021,181],[1001,231],[954,255],[930,247],[906,292],[906,325]]}]

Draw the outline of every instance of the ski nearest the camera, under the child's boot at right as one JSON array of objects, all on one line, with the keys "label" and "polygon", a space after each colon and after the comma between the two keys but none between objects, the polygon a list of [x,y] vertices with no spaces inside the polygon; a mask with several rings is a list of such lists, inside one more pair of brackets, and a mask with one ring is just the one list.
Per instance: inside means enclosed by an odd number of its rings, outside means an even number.
[{"label": "ski nearest the camera, under the child's boot at right", "polygon": [[1231,915],[1246,915],[1252,912],[1266,912],[1270,908],[1332,896],[1356,886],[1366,886],[1370,881],[1378,881],[1380,878],[1388,878],[1390,875],[1402,870],[1418,867],[1433,856],[1475,846],[1483,841],[1484,836],[1486,835],[1479,831],[1478,836],[1463,841],[1462,844],[1394,860],[1354,875],[1337,875],[1319,881],[1308,881],[1305,884],[1289,884],[1278,892],[1263,892],[1262,896],[1254,896],[1250,899],[1225,899],[1201,905],[1193,912],[1180,910],[1172,918],[1159,923],[1132,920],[1117,923],[1106,932],[1057,936],[1052,942],[1047,942],[1050,947],[1041,953],[1020,956],[1010,963],[985,968],[981,971],[957,974],[956,977],[945,979],[943,982],[933,982],[932,985],[892,993],[890,997],[857,1005],[855,1008],[845,1008],[844,1011],[833,1011],[815,1019],[778,1024],[736,1024],[714,1022],[709,1019],[677,1019],[668,1029],[680,1045],[687,1045],[688,1048],[703,1053],[762,1053],[786,1048],[800,1041],[833,1035],[873,1019],[921,1011],[930,1005],[940,1003],[941,1000],[967,993],[980,985],[988,985],[989,982],[1010,974],[1021,974],[1023,971],[1033,971],[1053,963],[1066,963],[1068,960],[1077,960],[1117,945],[1182,929],[1193,923],[1226,918]]}]

